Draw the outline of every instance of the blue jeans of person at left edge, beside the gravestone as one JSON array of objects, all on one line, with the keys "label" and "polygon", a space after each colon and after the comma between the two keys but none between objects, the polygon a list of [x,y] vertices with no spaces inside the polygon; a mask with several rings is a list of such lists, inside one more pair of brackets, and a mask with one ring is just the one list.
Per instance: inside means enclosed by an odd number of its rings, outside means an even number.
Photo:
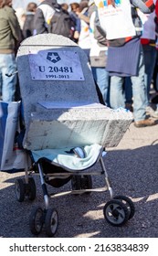
[{"label": "blue jeans of person at left edge, beside the gravestone", "polygon": [[15,101],[16,74],[7,77],[16,71],[16,56],[14,53],[0,54],[0,91],[3,101]]}]

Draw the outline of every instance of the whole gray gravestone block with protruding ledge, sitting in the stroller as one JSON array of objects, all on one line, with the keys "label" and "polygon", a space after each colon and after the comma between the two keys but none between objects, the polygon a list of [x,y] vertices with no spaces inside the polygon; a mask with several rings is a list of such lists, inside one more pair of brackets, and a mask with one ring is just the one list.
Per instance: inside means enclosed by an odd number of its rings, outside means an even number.
[{"label": "whole gray gravestone block with protruding ledge, sitting in the stroller", "polygon": [[25,148],[119,144],[132,114],[114,112],[99,103],[90,64],[77,44],[52,34],[29,37],[16,60]]}]

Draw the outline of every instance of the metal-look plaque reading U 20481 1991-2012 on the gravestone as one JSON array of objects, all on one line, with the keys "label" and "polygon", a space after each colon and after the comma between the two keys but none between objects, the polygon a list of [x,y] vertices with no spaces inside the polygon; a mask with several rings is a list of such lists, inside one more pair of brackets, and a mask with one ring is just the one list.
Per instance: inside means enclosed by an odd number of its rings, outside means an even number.
[{"label": "metal-look plaque reading U 20481 1991-2012 on the gravestone", "polygon": [[30,50],[32,80],[85,80],[79,54],[70,50]]}]

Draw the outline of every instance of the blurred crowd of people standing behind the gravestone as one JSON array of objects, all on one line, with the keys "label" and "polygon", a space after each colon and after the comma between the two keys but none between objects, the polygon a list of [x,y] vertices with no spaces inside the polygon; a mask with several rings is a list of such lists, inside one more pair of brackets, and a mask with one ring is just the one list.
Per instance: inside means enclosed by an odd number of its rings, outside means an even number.
[{"label": "blurred crowd of people standing behind the gravestone", "polygon": [[[133,112],[136,127],[152,126],[158,120],[158,1],[121,1],[130,13],[128,25],[134,24],[136,35],[121,36],[112,18],[100,16],[101,3],[111,5],[113,12],[120,1],[84,0],[63,3],[56,0],[30,2],[26,10],[12,8],[11,0],[0,0],[0,97],[2,101],[20,100],[16,52],[26,37],[48,33],[47,16],[53,20],[59,6],[73,20],[73,40],[90,62],[100,102]],[[140,2],[136,6],[135,2]],[[150,4],[149,4],[150,2]],[[125,4],[123,4],[125,3]],[[105,3],[104,3],[105,5]],[[106,7],[106,5],[104,7]],[[43,7],[41,7],[43,6]],[[46,7],[47,6],[47,7]],[[51,10],[52,9],[52,10]],[[119,22],[118,22],[119,24]],[[119,26],[119,25],[118,25]],[[106,32],[105,32],[106,31]],[[123,40],[122,40],[123,38]],[[125,39],[124,39],[125,38]],[[129,39],[130,38],[130,39]]]}]

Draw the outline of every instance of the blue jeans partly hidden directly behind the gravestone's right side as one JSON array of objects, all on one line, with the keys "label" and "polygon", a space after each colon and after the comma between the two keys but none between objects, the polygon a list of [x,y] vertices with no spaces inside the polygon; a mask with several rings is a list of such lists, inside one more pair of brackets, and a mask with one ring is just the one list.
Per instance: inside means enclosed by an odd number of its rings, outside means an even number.
[{"label": "blue jeans partly hidden directly behind the gravestone's right side", "polygon": [[108,106],[108,93],[109,93],[109,72],[102,67],[91,67],[93,78],[96,81],[104,103]]}]

